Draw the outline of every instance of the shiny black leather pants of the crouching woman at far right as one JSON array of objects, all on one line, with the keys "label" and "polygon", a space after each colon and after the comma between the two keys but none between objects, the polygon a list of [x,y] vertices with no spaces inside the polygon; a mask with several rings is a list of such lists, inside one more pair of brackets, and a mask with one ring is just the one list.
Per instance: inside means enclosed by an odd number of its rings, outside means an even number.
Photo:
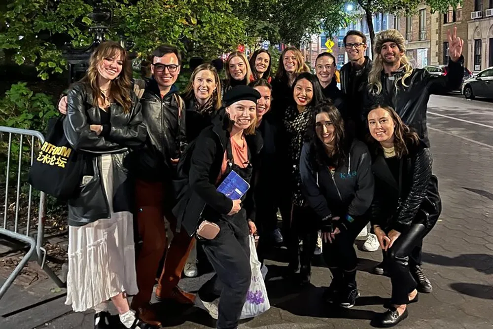
[{"label": "shiny black leather pants of the crouching woman at far right", "polygon": [[408,231],[403,232],[395,240],[392,248],[387,250],[388,273],[392,282],[392,297],[390,298],[392,304],[409,303],[408,294],[418,286],[409,271],[409,259],[414,248],[423,242],[426,234],[427,231],[423,224],[412,224]]}]

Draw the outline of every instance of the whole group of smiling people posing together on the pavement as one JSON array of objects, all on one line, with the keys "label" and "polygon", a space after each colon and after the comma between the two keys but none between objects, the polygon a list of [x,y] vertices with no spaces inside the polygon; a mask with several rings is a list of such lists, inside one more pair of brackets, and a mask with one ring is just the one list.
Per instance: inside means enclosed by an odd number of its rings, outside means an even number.
[{"label": "whole group of smiling people posing together on the pavement", "polygon": [[[206,308],[219,298],[217,328],[237,328],[251,276],[248,235],[258,228],[259,259],[281,238],[286,278],[301,285],[310,282],[321,231],[332,274],[321,302],[351,308],[359,296],[353,244],[371,223],[384,255],[374,272],[392,284],[387,311],[375,321],[391,327],[405,319],[418,290],[432,289],[421,245],[441,212],[427,102],[460,83],[463,41],[456,29],[449,33],[449,73],[441,77],[411,67],[398,31],[383,31],[374,43],[372,62],[364,34],[348,32],[342,90],[332,54],[317,57],[314,75],[287,47],[275,75],[268,51],[249,61],[232,52],[225,80],[203,63],[182,94],[175,47],[157,47],[152,76],[141,80],[132,79],[124,48],[100,44],[59,103],[67,139],[86,159],[69,201],[66,304],[94,309],[99,329],[110,328],[109,300],[125,328],[160,327],[150,299],[166,251],[156,298]],[[237,200],[217,191],[231,172],[250,185]],[[213,239],[196,233],[204,221],[219,228]],[[178,282],[195,244],[215,275],[192,294]]]}]

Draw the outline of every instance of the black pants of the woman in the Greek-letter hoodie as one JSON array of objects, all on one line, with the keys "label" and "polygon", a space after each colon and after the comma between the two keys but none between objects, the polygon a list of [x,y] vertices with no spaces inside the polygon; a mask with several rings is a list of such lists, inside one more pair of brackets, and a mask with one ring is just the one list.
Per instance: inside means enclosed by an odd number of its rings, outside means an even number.
[{"label": "black pants of the woman in the Greek-letter hoodie", "polygon": [[347,272],[356,268],[358,257],[354,250],[354,240],[369,221],[367,217],[355,218],[347,231],[336,234],[332,243],[323,242],[323,259],[329,268],[340,268]]}]

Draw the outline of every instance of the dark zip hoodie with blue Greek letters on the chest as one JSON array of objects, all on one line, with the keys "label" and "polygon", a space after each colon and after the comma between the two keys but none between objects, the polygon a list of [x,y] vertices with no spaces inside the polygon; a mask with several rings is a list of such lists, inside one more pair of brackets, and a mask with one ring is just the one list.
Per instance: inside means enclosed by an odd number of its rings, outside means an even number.
[{"label": "dark zip hoodie with blue Greek letters on the chest", "polygon": [[[315,146],[305,143],[301,151],[302,191],[320,219],[346,215],[363,216],[373,200],[373,175],[368,147],[353,140],[347,162],[330,173],[315,161]],[[345,223],[349,227],[350,223]]]}]

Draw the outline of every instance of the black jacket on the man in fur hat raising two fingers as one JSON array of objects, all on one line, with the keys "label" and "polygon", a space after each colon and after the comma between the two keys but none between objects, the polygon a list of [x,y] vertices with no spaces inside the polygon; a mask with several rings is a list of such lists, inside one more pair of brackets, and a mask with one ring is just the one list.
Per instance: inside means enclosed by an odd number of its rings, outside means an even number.
[{"label": "black jacket on the man in fur hat raising two fingers", "polygon": [[[402,76],[403,72],[393,74],[395,79]],[[414,69],[409,78],[406,79],[406,84],[409,87],[404,87],[399,80],[399,83],[393,92],[387,91],[387,83],[385,73],[382,72],[382,92],[377,95],[370,91],[364,93],[364,116],[362,120],[366,120],[368,110],[376,105],[389,105],[401,117],[402,121],[408,126],[414,128],[420,138],[429,146],[428,130],[426,128],[426,110],[431,94],[443,94],[446,91],[453,90],[460,86],[464,75],[464,58],[461,57],[457,63],[449,60],[449,73],[443,76],[433,76],[424,69]]]}]

